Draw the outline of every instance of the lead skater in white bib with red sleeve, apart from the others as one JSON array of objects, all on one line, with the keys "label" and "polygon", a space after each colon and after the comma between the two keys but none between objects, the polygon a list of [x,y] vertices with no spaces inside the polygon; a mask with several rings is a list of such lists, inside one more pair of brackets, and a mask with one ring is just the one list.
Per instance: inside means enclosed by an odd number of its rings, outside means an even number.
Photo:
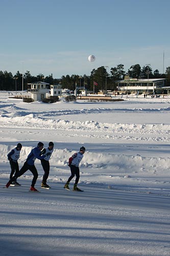
[{"label": "lead skater in white bib with red sleeve, apart from the others", "polygon": [[69,164],[68,166],[70,167],[71,170],[71,176],[68,178],[67,182],[64,185],[64,188],[69,189],[69,182],[72,180],[72,178],[75,177],[76,175],[76,180],[75,180],[75,184],[74,184],[74,188],[73,190],[75,191],[83,191],[80,188],[77,187],[77,184],[79,182],[80,179],[80,170],[79,170],[79,164],[83,158],[83,154],[85,153],[85,147],[82,146],[80,148],[80,151],[75,153],[74,155],[72,155],[72,157],[69,158]]}]

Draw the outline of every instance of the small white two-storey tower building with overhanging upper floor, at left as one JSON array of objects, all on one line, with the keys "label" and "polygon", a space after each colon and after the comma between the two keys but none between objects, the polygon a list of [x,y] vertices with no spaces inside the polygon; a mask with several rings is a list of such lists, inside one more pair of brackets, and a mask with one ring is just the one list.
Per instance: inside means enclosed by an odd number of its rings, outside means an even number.
[{"label": "small white two-storey tower building with overhanging upper floor, at left", "polygon": [[28,92],[31,93],[31,98],[33,98],[34,101],[41,101],[46,98],[46,94],[49,92],[50,83],[34,82],[28,84],[31,84],[31,89],[28,89]]}]

